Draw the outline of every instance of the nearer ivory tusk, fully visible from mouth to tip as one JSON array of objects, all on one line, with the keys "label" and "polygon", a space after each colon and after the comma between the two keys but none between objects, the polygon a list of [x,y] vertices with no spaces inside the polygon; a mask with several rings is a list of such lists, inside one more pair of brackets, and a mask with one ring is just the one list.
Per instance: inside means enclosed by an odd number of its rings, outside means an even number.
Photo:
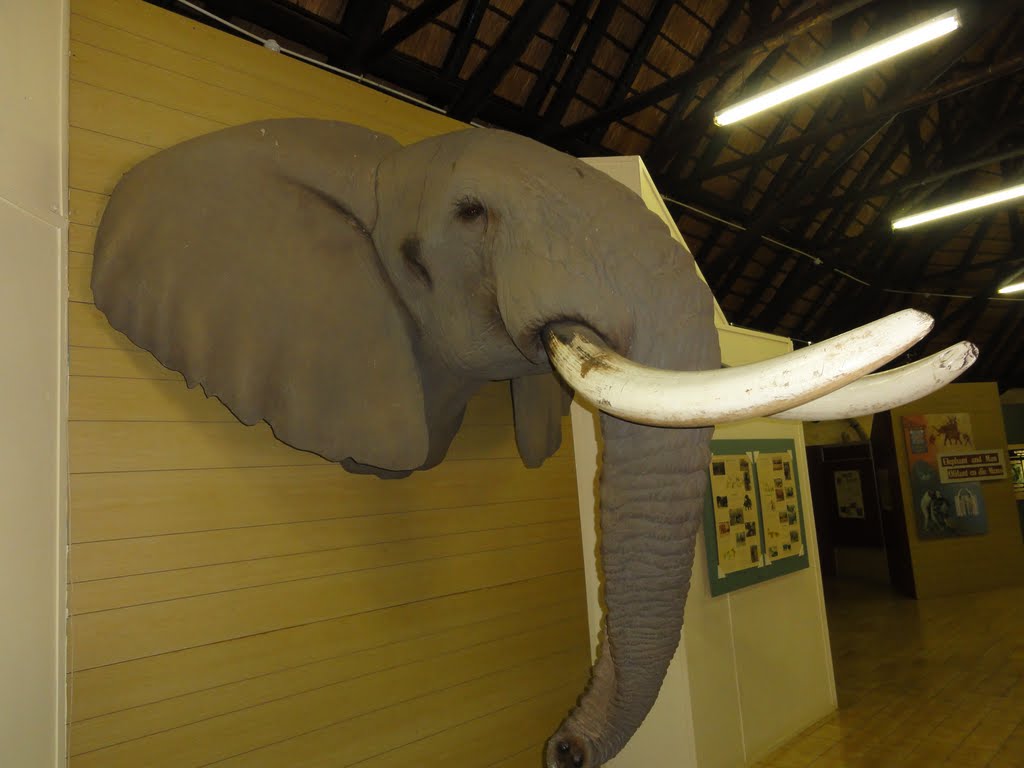
[{"label": "nearer ivory tusk, fully visible from mouth to tip", "polygon": [[771,359],[715,371],[664,371],[623,357],[590,328],[553,324],[552,365],[584,399],[626,421],[712,426],[777,414],[821,397],[888,362],[932,328],[914,309]]}]

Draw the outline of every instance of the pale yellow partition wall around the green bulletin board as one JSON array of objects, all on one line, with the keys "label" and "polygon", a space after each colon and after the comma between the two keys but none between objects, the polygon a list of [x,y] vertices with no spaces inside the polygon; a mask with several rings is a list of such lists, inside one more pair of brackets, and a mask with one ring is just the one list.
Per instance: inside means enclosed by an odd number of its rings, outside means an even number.
[{"label": "pale yellow partition wall around the green bulletin board", "polygon": [[[727,366],[793,349],[744,329],[720,328],[719,338]],[[752,765],[837,707],[803,424],[752,419],[715,429],[715,439],[763,438],[794,441],[808,567],[713,598],[701,530],[684,632],[700,768]]]}]

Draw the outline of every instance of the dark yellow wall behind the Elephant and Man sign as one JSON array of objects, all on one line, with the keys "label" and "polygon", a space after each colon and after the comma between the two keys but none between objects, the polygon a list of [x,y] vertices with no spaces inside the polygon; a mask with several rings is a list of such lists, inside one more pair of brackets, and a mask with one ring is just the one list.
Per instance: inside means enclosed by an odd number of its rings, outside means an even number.
[{"label": "dark yellow wall behind the Elephant and Man sign", "polygon": [[911,498],[902,417],[912,414],[968,413],[978,449],[1007,446],[999,393],[994,382],[950,384],[892,411],[904,520],[918,597],[938,597],[1024,584],[1024,541],[1010,479],[981,483],[988,532],[922,541],[916,504]]}]

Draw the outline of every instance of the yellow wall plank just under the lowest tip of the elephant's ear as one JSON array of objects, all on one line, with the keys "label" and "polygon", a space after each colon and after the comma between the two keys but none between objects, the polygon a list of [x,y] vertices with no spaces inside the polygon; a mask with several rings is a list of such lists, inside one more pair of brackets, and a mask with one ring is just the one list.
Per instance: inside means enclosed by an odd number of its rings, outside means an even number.
[{"label": "yellow wall plank just under the lowest tip of the elephant's ear", "polygon": [[[240,429],[246,428],[240,425]],[[70,502],[76,515],[70,532],[75,544],[409,509],[565,499],[575,495],[570,482],[574,482],[571,460],[551,459],[544,471],[538,471],[523,467],[518,458],[445,462],[402,480],[350,475],[327,462],[73,475]]]}]

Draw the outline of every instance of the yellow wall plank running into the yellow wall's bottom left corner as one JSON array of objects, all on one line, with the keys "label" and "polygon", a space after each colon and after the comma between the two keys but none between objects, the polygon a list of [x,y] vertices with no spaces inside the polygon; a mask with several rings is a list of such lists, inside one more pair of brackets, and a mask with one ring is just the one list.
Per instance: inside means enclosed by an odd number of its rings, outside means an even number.
[{"label": "yellow wall plank running into the yellow wall's bottom left corner", "polygon": [[[346,765],[427,730],[500,709],[509,686],[543,689],[579,676],[574,652],[530,657],[539,638],[510,636],[436,658],[257,705],[73,756],[74,768]],[[493,671],[494,658],[507,658]],[[407,698],[401,698],[407,696]],[[369,714],[360,714],[360,713]],[[369,732],[368,732],[369,730]],[[426,734],[424,734],[426,735]],[[395,743],[397,742],[397,743]],[[237,756],[237,757],[232,757]]]}]

